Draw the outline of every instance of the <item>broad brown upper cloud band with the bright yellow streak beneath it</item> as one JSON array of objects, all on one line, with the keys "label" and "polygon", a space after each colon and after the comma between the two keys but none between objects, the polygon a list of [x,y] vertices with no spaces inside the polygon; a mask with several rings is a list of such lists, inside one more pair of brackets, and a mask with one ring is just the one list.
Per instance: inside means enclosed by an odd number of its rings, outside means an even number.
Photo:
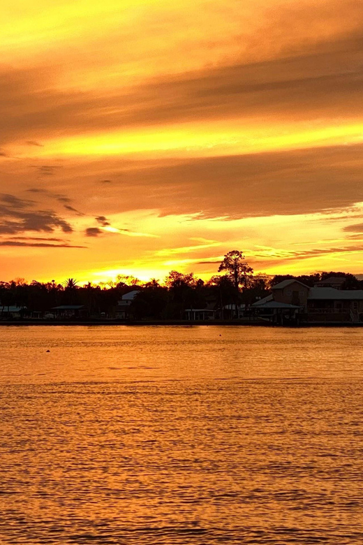
[{"label": "broad brown upper cloud band with the bright yellow streak beneath it", "polygon": [[[362,61],[360,43],[348,40],[329,52],[87,91],[59,87],[35,68],[6,69],[1,136],[5,150],[22,157],[180,157],[355,143],[363,133]],[[29,149],[38,140],[42,150]]]}]

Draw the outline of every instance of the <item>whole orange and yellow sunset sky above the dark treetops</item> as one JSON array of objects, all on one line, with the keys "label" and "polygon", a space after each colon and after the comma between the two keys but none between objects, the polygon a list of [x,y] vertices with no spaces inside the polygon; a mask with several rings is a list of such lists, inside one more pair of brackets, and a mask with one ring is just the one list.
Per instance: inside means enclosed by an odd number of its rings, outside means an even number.
[{"label": "whole orange and yellow sunset sky above the dark treetops", "polygon": [[0,279],[363,273],[362,0],[1,12]]}]

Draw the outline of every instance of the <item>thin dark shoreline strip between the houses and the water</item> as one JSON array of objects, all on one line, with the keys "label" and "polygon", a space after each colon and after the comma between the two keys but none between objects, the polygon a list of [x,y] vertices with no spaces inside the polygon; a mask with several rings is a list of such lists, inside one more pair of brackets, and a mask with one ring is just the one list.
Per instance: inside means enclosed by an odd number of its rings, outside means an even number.
[{"label": "thin dark shoreline strip between the houses and the water", "polygon": [[1,320],[1,326],[252,326],[273,328],[314,328],[314,327],[363,327],[363,322],[304,322],[302,324],[271,324],[267,321],[242,320]]}]

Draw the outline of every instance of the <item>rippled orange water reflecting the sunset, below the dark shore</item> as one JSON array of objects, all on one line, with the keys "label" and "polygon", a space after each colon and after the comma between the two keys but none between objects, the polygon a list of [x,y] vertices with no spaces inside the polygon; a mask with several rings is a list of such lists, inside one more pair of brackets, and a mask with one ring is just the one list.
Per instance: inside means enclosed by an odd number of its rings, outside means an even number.
[{"label": "rippled orange water reflecting the sunset, below the dark shore", "polygon": [[362,329],[1,327],[0,362],[1,544],[363,543]]}]

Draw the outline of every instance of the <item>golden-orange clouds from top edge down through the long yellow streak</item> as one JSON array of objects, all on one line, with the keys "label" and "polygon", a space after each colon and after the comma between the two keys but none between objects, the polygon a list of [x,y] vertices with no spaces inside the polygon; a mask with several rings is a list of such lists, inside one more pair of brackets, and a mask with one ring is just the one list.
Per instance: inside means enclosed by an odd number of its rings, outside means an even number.
[{"label": "golden-orange clouds from top edge down through the long yellow streak", "polygon": [[10,154],[237,154],[362,134],[360,1],[36,6],[4,24]]}]

